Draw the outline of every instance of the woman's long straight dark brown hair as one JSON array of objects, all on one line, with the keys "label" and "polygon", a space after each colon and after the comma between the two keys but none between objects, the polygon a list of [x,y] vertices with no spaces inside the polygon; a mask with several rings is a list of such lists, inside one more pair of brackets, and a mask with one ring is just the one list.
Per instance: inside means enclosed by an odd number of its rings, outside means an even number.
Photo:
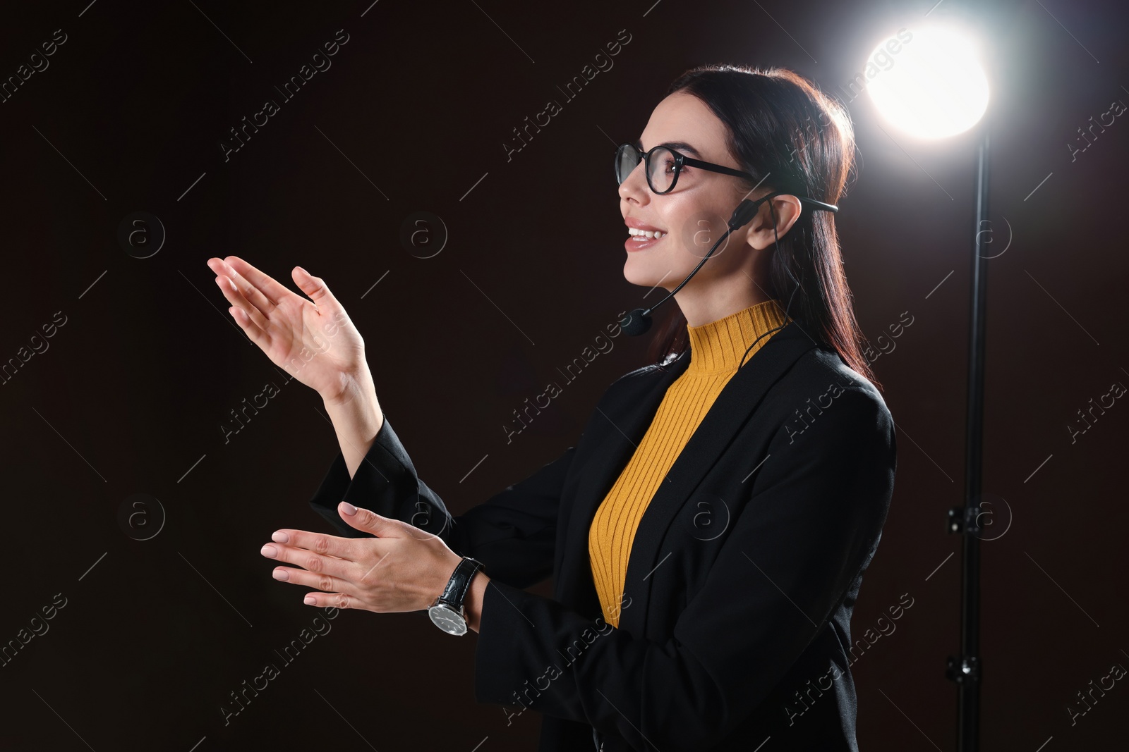
[{"label": "woman's long straight dark brown hair", "polygon": [[[666,94],[675,91],[698,97],[725,124],[730,154],[754,178],[745,182],[746,193],[759,184],[761,193],[787,191],[830,204],[843,196],[855,159],[854,129],[842,105],[806,78],[784,68],[700,65]],[[834,215],[805,206],[777,244],[769,268],[765,294],[787,306],[796,290],[788,317],[882,389],[860,347],[867,340],[855,319]],[[686,319],[675,307],[649,354],[662,361],[688,346]]]}]

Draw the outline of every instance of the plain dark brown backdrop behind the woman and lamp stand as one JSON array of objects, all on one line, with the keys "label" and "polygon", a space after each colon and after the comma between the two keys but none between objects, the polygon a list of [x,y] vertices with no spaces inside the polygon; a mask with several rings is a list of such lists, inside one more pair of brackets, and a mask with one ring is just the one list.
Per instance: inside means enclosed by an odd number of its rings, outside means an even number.
[{"label": "plain dark brown backdrop behind the woman and lamp stand", "polygon": [[[928,18],[933,0],[86,3],[9,5],[0,25],[3,77],[68,35],[0,104],[0,361],[67,317],[0,389],[0,642],[67,599],[0,669],[0,746],[531,749],[535,716],[507,727],[474,702],[475,638],[422,612],[342,612],[222,724],[228,693],[280,664],[273,651],[317,613],[259,549],[277,528],[324,529],[306,502],[336,444],[316,395],[282,386],[234,326],[205,259],[237,254],[291,286],[296,264],[323,276],[421,476],[462,511],[557,457],[645,362],[644,339],[616,338],[506,444],[511,412],[644,302],[622,276],[610,139],[636,138],[691,65],[781,64],[838,91],[895,29],[954,18],[994,61],[994,239],[1005,219],[1013,232],[989,265],[984,490],[1006,501],[994,530],[1010,527],[983,543],[983,747],[1124,744],[1124,682],[1076,725],[1067,714],[1087,682],[1129,666],[1129,406],[1074,444],[1067,430],[1129,383],[1129,123],[1074,162],[1066,145],[1129,101],[1114,3],[1009,2],[979,18],[948,0]],[[332,68],[282,103],[273,87],[338,29],[350,39]],[[620,29],[631,42],[614,68],[563,101],[555,87]],[[225,162],[219,141],[265,98],[281,110]],[[563,110],[507,162],[504,139],[549,98]],[[874,363],[899,472],[856,635],[902,594],[913,605],[855,666],[858,737],[870,752],[949,750],[960,558],[945,513],[962,503],[975,139],[896,134],[867,95],[849,108],[859,169],[837,221],[857,315],[872,340],[913,317]],[[138,211],[167,231],[145,259],[117,241]],[[432,258],[400,242],[417,211],[449,230]],[[281,392],[225,444],[229,412],[268,381]],[[145,541],[117,516],[138,493],[167,514]]]}]

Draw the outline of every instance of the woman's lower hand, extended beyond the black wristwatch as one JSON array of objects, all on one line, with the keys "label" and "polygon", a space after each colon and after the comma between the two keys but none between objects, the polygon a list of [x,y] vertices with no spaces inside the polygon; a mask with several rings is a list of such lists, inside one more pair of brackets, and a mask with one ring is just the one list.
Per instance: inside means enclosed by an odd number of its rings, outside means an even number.
[{"label": "woman's lower hand, extended beyond the black wristwatch", "polygon": [[[301,567],[275,567],[275,580],[316,587],[309,605],[366,611],[419,611],[430,607],[462,560],[438,536],[348,502],[339,507],[350,527],[376,538],[341,538],[278,530],[262,555]],[[353,511],[355,514],[349,512]],[[273,549],[273,552],[272,552]]]}]

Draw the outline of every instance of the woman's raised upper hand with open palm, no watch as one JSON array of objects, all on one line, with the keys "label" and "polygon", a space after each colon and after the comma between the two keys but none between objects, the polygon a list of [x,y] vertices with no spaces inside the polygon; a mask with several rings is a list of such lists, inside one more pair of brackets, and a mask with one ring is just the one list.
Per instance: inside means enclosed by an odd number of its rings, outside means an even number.
[{"label": "woman's raised upper hand with open palm, no watch", "polygon": [[365,340],[321,277],[300,266],[291,271],[306,300],[238,256],[209,258],[208,267],[251,342],[322,399],[348,399],[371,384]]}]

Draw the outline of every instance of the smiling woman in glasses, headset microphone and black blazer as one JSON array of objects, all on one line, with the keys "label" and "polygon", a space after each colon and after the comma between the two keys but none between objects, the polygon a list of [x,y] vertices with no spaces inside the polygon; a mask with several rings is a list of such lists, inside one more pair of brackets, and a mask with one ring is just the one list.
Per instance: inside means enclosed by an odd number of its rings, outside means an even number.
[{"label": "smiling woman in glasses, headset microphone and black blazer", "polygon": [[[306,300],[209,259],[233,318],[318,391],[341,445],[310,501],[341,537],[278,531],[264,555],[296,566],[275,576],[314,605],[427,608],[456,634],[465,619],[476,699],[510,722],[542,714],[542,751],[856,750],[850,617],[895,441],[832,220],[851,159],[843,109],[790,71],[675,80],[616,175],[624,276],[677,290],[689,348],[663,340],[575,446],[454,517],[325,283],[296,267]],[[755,213],[679,287],[746,198]],[[553,599],[523,590],[550,575]]]}]

